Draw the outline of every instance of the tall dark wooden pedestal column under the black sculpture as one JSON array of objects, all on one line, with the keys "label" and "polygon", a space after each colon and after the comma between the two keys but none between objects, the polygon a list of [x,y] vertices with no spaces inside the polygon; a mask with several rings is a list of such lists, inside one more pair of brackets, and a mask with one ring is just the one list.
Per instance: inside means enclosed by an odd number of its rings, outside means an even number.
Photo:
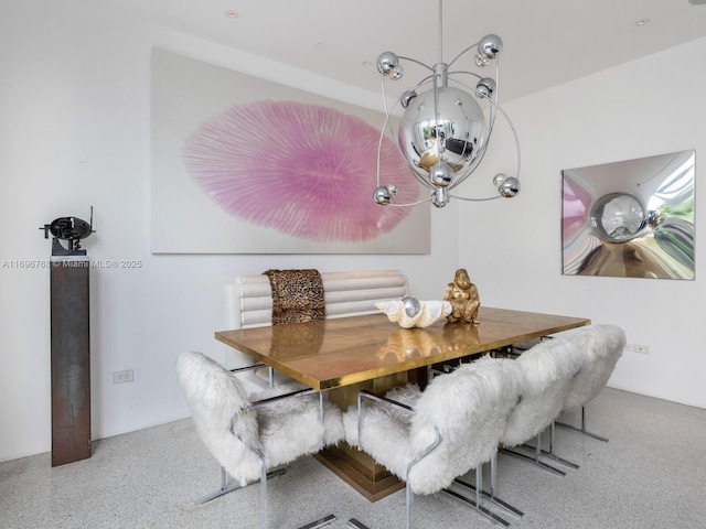
[{"label": "tall dark wooden pedestal column under the black sculpture", "polygon": [[52,257],[52,466],[90,457],[89,267]]}]

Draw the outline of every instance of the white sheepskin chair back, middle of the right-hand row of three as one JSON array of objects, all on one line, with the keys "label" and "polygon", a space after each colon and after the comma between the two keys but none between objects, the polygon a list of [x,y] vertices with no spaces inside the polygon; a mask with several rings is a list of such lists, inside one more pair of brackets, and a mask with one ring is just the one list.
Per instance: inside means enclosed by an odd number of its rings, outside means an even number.
[{"label": "white sheepskin chair back, middle of the right-hand row of three", "polygon": [[524,387],[501,438],[506,447],[535,438],[558,417],[570,379],[585,357],[568,339],[554,338],[525,350],[514,361],[522,370]]}]

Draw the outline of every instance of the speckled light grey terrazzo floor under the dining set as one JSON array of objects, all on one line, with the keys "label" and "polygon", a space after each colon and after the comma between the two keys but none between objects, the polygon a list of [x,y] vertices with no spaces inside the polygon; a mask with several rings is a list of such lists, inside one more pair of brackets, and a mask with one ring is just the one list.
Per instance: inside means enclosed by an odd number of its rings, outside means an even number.
[{"label": "speckled light grey terrazzo floor under the dining set", "polygon": [[[580,465],[564,477],[499,456],[498,495],[525,512],[506,517],[511,528],[706,528],[706,410],[606,388],[587,418],[610,441],[557,428],[556,453]],[[49,453],[0,463],[0,528],[257,529],[257,486],[194,505],[218,479],[186,419],[96,441],[89,460],[68,465],[52,468]],[[329,514],[331,529],[352,517],[405,527],[404,490],[371,504],[313,457],[268,483],[272,528]],[[418,529],[493,527],[446,495],[416,497],[415,512]]]}]

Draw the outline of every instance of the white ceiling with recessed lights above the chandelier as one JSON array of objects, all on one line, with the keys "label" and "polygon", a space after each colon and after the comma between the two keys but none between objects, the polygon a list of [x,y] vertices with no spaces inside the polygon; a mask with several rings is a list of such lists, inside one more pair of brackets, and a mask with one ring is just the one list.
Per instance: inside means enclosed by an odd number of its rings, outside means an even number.
[{"label": "white ceiling with recessed lights above the chandelier", "polygon": [[[83,1],[371,91],[379,91],[375,62],[382,52],[427,65],[439,62],[435,0]],[[228,17],[231,11],[238,15]],[[689,0],[446,0],[442,28],[443,62],[488,33],[502,37],[500,98],[507,101],[706,36],[706,6]],[[473,56],[469,53],[456,69],[473,69]],[[407,64],[400,91],[421,78],[421,71],[410,72]],[[492,69],[483,75],[494,76]]]}]

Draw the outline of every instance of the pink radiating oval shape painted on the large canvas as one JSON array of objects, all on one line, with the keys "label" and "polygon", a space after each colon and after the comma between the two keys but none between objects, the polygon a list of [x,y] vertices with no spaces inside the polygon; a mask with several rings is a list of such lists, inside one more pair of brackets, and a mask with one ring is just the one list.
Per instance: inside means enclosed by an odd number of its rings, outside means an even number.
[{"label": "pink radiating oval shape painted on the large canvas", "polygon": [[[410,208],[373,201],[379,130],[356,116],[296,101],[235,105],[203,121],[182,158],[199,187],[245,222],[324,244],[373,240]],[[383,183],[398,201],[418,199],[419,185],[393,142],[381,154]]]}]

